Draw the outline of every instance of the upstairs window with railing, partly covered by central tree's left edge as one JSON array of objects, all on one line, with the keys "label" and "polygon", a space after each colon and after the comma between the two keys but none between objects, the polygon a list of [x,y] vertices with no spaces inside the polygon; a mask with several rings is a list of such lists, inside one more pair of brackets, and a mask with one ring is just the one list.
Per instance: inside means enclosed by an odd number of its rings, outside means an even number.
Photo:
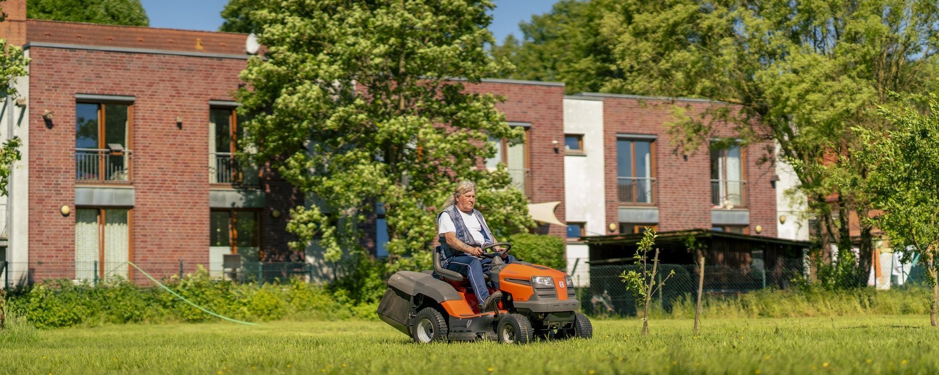
[{"label": "upstairs window with railing, partly covered by central tree's left edge", "polygon": [[240,123],[234,108],[212,108],[208,116],[208,179],[212,184],[257,185],[257,171],[235,160]]}]

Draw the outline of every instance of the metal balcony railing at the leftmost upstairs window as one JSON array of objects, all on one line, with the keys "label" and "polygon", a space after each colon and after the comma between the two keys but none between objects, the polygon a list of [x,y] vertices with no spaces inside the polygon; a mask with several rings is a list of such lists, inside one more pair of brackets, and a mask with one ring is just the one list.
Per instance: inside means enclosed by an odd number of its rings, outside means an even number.
[{"label": "metal balcony railing at the leftmost upstairs window", "polygon": [[75,149],[75,180],[88,182],[131,181],[131,150]]}]

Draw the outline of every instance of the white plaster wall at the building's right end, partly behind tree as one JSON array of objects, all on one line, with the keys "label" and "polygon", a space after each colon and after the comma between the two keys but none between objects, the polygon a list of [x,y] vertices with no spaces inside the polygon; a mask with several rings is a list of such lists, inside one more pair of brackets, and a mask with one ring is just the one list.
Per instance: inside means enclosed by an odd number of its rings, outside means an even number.
[{"label": "white plaster wall at the building's right end, partly behind tree", "polygon": [[[777,156],[778,151],[777,144]],[[808,241],[806,197],[801,193],[792,193],[799,186],[799,178],[795,175],[793,166],[782,158],[776,160],[776,174],[779,177],[776,182],[776,224],[779,238]],[[785,223],[779,222],[781,217],[786,217]]]}]

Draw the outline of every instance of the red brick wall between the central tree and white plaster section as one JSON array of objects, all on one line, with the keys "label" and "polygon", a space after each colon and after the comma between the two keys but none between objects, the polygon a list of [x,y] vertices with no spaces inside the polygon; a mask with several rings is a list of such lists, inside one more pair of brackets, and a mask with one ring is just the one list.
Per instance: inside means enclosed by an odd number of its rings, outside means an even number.
[{"label": "red brick wall between the central tree and white plaster section", "polygon": [[[531,203],[561,201],[555,217],[564,218],[564,87],[561,85],[482,82],[468,85],[476,92],[506,98],[498,105],[509,122],[531,123],[528,157],[531,166]],[[558,141],[555,151],[552,141]],[[544,230],[544,228],[542,228]],[[565,236],[567,229],[548,225],[547,233]]]}]

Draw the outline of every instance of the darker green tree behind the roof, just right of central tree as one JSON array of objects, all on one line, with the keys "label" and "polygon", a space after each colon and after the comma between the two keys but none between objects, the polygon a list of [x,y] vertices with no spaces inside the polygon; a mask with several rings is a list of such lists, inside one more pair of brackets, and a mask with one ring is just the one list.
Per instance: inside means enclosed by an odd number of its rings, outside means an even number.
[{"label": "darker green tree behind the roof, just right of central tree", "polygon": [[509,35],[492,54],[515,69],[500,77],[565,82],[568,93],[599,91],[604,82],[620,78],[608,37],[601,34],[605,2],[561,0],[531,22],[518,25],[522,40]]}]

